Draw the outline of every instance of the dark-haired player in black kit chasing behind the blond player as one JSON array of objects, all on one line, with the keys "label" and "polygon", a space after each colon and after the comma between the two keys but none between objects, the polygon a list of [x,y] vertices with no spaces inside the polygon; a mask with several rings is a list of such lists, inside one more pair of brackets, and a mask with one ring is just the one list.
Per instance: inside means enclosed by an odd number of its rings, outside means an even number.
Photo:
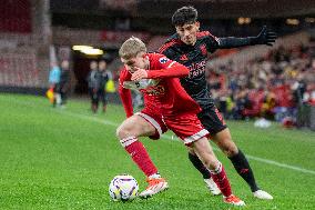
[{"label": "dark-haired player in black kit chasing behind the blond player", "polygon": [[[185,91],[201,106],[199,113],[204,128],[210,132],[211,139],[232,161],[237,173],[251,187],[253,196],[258,199],[271,200],[273,197],[260,189],[254,178],[250,163],[240,148],[233,142],[228,128],[214,106],[210,96],[205,79],[205,64],[209,53],[216,49],[228,49],[243,46],[267,44],[275,42],[276,34],[264,27],[257,37],[246,38],[216,38],[209,31],[200,31],[197,11],[193,7],[182,7],[172,17],[172,23],[176,33],[159,49],[159,53],[177,61],[190,69],[189,77],[181,78],[181,84]],[[189,159],[203,174],[204,181],[213,194],[220,194],[220,190],[211,179],[211,173],[200,161],[197,156],[189,152]]]}]

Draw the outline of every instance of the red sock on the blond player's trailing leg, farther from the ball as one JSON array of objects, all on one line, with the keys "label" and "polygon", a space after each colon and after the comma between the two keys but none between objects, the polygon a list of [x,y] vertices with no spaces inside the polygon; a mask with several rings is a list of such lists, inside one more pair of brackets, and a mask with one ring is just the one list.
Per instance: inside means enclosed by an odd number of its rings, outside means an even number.
[{"label": "red sock on the blond player's trailing leg, farther from the ball", "polygon": [[230,197],[232,194],[232,190],[222,163],[220,162],[219,167],[213,171],[211,170],[210,172],[213,181],[216,183],[222,194],[224,197]]}]

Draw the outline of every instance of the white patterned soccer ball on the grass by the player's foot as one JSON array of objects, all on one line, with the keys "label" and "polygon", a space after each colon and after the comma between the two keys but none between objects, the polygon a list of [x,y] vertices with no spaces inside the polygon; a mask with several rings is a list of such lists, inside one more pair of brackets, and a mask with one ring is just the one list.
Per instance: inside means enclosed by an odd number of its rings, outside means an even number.
[{"label": "white patterned soccer ball on the grass by the player's foot", "polygon": [[114,201],[130,201],[138,196],[139,186],[130,174],[115,176],[109,187],[109,192]]}]

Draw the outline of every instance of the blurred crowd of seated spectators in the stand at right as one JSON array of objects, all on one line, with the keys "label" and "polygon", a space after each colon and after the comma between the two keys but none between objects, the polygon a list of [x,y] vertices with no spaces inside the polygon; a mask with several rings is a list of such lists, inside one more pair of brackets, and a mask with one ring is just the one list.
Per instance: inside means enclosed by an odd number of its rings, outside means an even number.
[{"label": "blurred crowd of seated spectators in the stand at right", "polygon": [[244,64],[209,69],[209,86],[228,119],[295,119],[301,104],[315,106],[315,49],[278,47]]}]

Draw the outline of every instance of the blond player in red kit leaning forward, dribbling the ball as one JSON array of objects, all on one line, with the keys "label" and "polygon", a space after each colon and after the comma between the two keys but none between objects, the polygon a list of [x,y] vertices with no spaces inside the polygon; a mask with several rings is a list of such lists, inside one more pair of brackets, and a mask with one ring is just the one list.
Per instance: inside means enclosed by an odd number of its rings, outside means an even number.
[{"label": "blond player in red kit leaning forward, dribbling the ball", "polygon": [[[167,189],[169,184],[160,176],[139,137],[159,139],[170,129],[210,170],[224,196],[224,202],[244,206],[244,201],[232,194],[224,168],[207,141],[209,132],[196,117],[200,106],[180,84],[177,77],[186,77],[189,69],[163,54],[146,53],[145,44],[134,37],[121,46],[119,54],[125,67],[120,74],[120,96],[128,119],[118,128],[116,136],[148,177],[149,187],[140,197],[151,197]],[[129,89],[138,89],[144,94],[144,109],[139,113],[133,114]]]}]

